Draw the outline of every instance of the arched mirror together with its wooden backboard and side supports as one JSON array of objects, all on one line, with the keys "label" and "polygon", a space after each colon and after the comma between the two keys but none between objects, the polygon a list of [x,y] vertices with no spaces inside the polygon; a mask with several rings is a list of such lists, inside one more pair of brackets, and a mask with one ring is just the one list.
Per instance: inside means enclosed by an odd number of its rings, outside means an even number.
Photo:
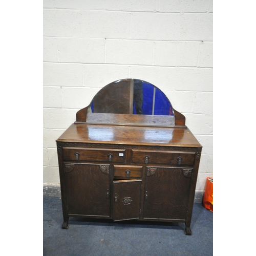
[{"label": "arched mirror together with its wooden backboard and side supports", "polygon": [[127,78],[103,87],[86,108],[77,112],[76,122],[185,125],[185,117],[152,83]]}]

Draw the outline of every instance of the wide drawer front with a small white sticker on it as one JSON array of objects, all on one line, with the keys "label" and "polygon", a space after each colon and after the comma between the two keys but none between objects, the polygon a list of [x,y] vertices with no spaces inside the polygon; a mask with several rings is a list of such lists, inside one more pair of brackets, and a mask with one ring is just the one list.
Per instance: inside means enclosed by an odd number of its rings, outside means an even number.
[{"label": "wide drawer front with a small white sticker on it", "polygon": [[63,147],[63,160],[124,162],[125,150],[108,148]]}]

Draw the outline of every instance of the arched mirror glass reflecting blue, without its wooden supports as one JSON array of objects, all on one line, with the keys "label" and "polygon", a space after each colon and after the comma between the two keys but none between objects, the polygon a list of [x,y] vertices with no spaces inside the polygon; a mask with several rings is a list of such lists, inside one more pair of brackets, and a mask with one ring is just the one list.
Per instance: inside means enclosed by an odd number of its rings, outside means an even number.
[{"label": "arched mirror glass reflecting blue, without its wooden supports", "polygon": [[88,112],[174,116],[165,94],[139,79],[121,79],[103,87],[94,96]]}]

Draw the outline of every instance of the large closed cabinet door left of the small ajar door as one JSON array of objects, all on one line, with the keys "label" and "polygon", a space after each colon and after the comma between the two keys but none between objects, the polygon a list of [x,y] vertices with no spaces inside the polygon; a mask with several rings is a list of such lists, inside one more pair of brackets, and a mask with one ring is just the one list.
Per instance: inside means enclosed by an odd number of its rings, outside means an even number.
[{"label": "large closed cabinet door left of the small ajar door", "polygon": [[65,164],[68,213],[110,216],[110,165]]}]

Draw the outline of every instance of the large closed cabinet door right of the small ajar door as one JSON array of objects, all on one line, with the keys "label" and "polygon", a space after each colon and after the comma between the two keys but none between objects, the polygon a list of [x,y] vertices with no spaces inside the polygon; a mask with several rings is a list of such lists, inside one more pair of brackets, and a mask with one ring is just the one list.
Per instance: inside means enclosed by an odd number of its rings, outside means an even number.
[{"label": "large closed cabinet door right of the small ajar door", "polygon": [[144,219],[186,219],[193,169],[146,167]]}]

